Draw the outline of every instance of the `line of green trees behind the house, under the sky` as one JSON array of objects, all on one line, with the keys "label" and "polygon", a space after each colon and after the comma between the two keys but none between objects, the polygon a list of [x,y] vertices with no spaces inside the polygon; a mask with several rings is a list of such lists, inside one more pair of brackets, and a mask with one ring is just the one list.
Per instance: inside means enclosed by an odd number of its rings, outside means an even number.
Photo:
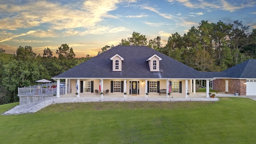
[{"label": "line of green trees behind the house, under the sky", "polygon": [[[256,58],[256,29],[248,33],[249,26],[235,20],[209,23],[202,20],[181,36],[171,34],[165,45],[161,37],[147,40],[145,35],[133,32],[118,45],[149,46],[199,71],[222,71],[248,59]],[[104,46],[98,54],[112,46]],[[31,46],[18,47],[14,54],[0,48],[0,104],[18,102],[18,87],[32,86],[35,81],[56,76],[92,57],[75,58],[68,44],[62,44],[53,56],[50,48],[43,55],[33,52]]]}]

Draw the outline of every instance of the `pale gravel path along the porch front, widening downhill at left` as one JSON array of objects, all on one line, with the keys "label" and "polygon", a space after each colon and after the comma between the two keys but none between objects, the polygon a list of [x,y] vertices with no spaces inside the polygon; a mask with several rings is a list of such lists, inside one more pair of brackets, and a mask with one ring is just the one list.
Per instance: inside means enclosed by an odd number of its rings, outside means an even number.
[{"label": "pale gravel path along the porch front, widening downhill at left", "polygon": [[28,114],[35,113],[51,104],[68,102],[110,102],[110,101],[218,101],[219,98],[48,98],[40,102],[15,106],[1,115]]}]

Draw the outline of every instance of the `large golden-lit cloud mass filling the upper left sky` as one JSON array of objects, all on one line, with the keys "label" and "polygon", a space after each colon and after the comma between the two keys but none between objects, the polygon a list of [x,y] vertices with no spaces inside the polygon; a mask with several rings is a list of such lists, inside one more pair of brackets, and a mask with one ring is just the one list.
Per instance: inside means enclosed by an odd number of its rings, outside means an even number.
[{"label": "large golden-lit cloud mass filling the upper left sky", "polygon": [[118,3],[118,0],[86,0],[79,7],[74,7],[75,4],[58,2],[29,1],[20,4],[3,1],[0,2],[0,13],[4,13],[0,19],[0,29],[16,30],[43,24],[53,30],[90,28],[105,17],[118,18],[108,13],[116,10]]}]

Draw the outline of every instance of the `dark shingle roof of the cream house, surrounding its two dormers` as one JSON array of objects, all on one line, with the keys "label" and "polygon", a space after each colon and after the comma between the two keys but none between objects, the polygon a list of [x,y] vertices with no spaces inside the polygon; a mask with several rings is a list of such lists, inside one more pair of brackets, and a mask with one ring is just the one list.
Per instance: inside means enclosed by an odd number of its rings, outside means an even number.
[{"label": "dark shingle roof of the cream house, surrounding its two dormers", "polygon": [[[118,54],[122,61],[122,72],[112,71],[110,58]],[[156,54],[162,60],[159,72],[150,72],[146,60]],[[115,46],[82,64],[54,76],[54,78],[191,78],[208,76],[147,46]]]}]

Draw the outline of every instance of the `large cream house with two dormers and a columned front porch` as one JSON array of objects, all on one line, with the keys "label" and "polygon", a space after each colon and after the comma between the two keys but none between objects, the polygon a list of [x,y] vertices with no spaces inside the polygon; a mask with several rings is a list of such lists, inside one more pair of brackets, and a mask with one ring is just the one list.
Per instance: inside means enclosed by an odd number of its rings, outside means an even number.
[{"label": "large cream house with two dormers and a columned front porch", "polygon": [[[109,90],[111,96],[172,96],[188,97],[195,92],[195,80],[213,80],[173,58],[147,46],[115,46],[98,56],[54,76],[57,97],[60,79],[65,79],[65,94],[77,97],[95,95],[95,90]],[[194,83],[194,86],[192,84]],[[165,89],[166,91],[164,91]],[[209,86],[206,89],[208,97]]]}]

